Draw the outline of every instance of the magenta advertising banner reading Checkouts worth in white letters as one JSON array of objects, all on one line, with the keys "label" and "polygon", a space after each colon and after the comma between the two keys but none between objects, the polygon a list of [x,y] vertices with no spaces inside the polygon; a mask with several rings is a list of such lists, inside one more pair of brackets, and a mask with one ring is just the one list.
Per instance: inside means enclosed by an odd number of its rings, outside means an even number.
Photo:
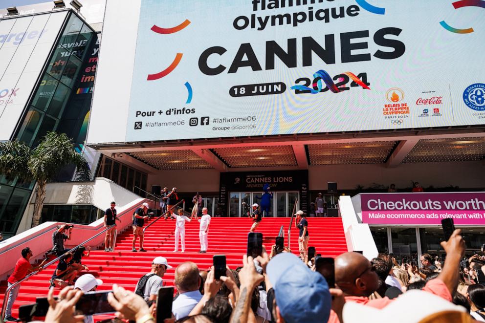
[{"label": "magenta advertising banner reading Checkouts worth in white letters", "polygon": [[[485,193],[360,194],[362,222],[379,225],[485,225]],[[356,210],[357,211],[357,210]]]}]

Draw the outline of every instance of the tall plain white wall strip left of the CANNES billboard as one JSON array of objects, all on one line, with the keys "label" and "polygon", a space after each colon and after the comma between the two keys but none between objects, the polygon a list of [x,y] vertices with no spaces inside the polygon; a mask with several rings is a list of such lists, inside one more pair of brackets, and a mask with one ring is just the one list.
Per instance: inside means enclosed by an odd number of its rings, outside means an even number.
[{"label": "tall plain white wall strip left of the CANNES billboard", "polygon": [[[140,5],[141,0],[106,3],[87,144],[125,141]],[[114,125],[109,131],[108,120]]]}]

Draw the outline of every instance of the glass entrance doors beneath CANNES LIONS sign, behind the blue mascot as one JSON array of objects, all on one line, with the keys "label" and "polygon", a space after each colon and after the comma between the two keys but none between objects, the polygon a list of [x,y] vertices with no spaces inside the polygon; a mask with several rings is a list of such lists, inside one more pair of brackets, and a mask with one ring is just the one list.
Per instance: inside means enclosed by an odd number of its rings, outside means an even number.
[{"label": "glass entrance doors beneath CANNES LIONS sign, behind the blue mascot", "polygon": [[[261,204],[261,194],[261,192],[229,193],[229,216],[247,216],[244,214],[243,203],[246,203],[249,206],[249,210],[251,210],[251,205],[254,203]],[[290,216],[296,200],[299,200],[298,192],[273,192],[268,216]],[[299,208],[298,202],[296,209],[298,210]]]}]

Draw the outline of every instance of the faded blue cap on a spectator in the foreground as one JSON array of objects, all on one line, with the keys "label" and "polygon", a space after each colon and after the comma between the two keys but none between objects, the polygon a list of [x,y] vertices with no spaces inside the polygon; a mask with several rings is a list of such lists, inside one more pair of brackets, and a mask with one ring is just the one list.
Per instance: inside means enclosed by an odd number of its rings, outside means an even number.
[{"label": "faded blue cap on a spectator in the foreground", "polygon": [[322,323],[329,320],[329,285],[300,258],[291,253],[279,254],[269,261],[266,273],[285,322]]}]

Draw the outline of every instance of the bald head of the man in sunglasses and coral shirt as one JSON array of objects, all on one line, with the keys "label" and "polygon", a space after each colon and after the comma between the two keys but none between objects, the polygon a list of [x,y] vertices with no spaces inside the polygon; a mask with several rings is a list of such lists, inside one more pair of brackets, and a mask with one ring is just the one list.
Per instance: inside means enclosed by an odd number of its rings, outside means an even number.
[{"label": "bald head of the man in sunglasses and coral shirt", "polygon": [[356,252],[335,258],[335,283],[350,296],[369,296],[379,287],[372,263]]}]

